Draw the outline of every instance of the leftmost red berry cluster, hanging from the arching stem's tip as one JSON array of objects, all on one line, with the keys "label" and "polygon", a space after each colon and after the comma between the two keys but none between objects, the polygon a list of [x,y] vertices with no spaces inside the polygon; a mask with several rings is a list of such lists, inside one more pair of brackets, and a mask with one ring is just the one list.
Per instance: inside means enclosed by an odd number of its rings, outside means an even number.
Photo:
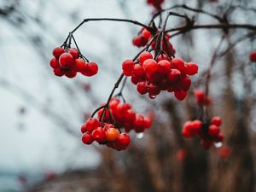
[{"label": "leftmost red berry cluster, hanging from the arching stem's tip", "polygon": [[84,61],[84,57],[80,55],[78,49],[56,47],[52,54],[54,57],[50,60],[49,65],[53,68],[56,76],[61,77],[65,74],[67,78],[74,78],[79,72],[90,77],[98,72],[97,64]]}]

